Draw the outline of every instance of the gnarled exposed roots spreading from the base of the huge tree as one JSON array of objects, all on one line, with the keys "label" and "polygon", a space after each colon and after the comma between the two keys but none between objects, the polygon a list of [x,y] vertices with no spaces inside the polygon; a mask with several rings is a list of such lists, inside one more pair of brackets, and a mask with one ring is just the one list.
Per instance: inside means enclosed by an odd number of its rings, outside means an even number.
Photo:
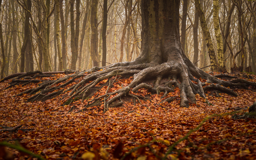
[{"label": "gnarled exposed roots spreading from the base of the huge tree", "polygon": [[[28,98],[28,102],[33,102],[46,101],[47,99],[51,99],[63,94],[62,98],[68,97],[63,104],[71,104],[76,99],[82,99],[81,102],[86,104],[84,109],[92,106],[101,106],[103,104],[104,112],[106,112],[110,107],[122,105],[124,103],[122,98],[125,96],[136,99],[143,106],[140,99],[146,101],[146,97],[133,94],[141,88],[145,88],[149,92],[156,94],[164,92],[163,96],[161,97],[163,98],[161,103],[164,103],[171,102],[176,98],[169,97],[165,99],[169,92],[173,92],[175,87],[179,87],[180,106],[189,107],[189,103],[196,103],[195,94],[199,94],[205,99],[205,92],[207,91],[214,91],[216,96],[220,96],[216,91],[227,93],[232,96],[238,96],[236,92],[227,87],[256,87],[255,82],[246,81],[245,79],[240,79],[228,74],[211,76],[194,65],[190,65],[191,62],[188,61],[188,59],[185,58],[184,61],[188,64],[185,65],[183,63],[172,61],[162,64],[136,64],[137,62],[135,63],[135,61],[116,63],[107,67],[93,67],[86,71],[75,73],[74,71],[67,71],[67,73],[73,72],[73,74],[58,78],[54,81],[42,81],[34,79],[38,76],[47,74],[42,72],[29,72],[20,74],[18,78],[13,79],[9,87],[12,87],[17,83],[27,84],[40,82],[38,87],[28,89],[17,96],[24,93],[29,93],[32,96]],[[24,77],[31,75],[33,77],[24,80]],[[134,79],[128,86],[122,86],[122,88],[118,89],[117,91],[109,92],[110,88],[113,86],[113,83],[119,81],[121,76],[133,76]],[[114,77],[114,80],[111,79],[112,77]],[[231,80],[224,81],[217,77],[230,78]],[[203,79],[206,79],[207,83],[205,83]],[[155,80],[154,84],[152,85],[146,83],[149,80]],[[77,81],[79,82],[77,83]],[[68,84],[73,82],[75,83],[71,87],[65,89]],[[85,102],[85,99],[93,96],[94,93],[104,86],[107,86],[104,95],[97,95],[91,100],[87,100]],[[207,99],[206,102],[208,102]],[[150,110],[150,108],[148,109]]]}]

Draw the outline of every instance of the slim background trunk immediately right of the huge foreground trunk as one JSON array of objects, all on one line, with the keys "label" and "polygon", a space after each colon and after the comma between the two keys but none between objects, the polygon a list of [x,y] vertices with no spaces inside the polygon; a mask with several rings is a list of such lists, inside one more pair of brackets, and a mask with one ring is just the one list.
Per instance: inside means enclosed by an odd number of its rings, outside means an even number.
[{"label": "slim background trunk immediately right of the huge foreground trunk", "polygon": [[183,0],[183,15],[181,20],[181,48],[183,49],[186,57],[189,58],[188,52],[185,51],[186,44],[186,16],[188,15],[188,0]]}]

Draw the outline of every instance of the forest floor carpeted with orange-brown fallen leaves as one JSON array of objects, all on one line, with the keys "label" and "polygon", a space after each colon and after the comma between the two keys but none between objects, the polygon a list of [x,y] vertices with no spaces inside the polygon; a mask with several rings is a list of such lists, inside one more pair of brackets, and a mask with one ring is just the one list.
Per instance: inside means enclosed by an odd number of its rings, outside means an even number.
[{"label": "forest floor carpeted with orange-brown fallen leaves", "polygon": [[[63,76],[66,75],[48,78]],[[132,77],[120,78],[111,89],[125,87],[131,80]],[[249,81],[256,82],[256,77]],[[208,92],[206,98],[212,105],[196,94],[197,104],[189,108],[180,107],[178,88],[166,97],[175,97],[170,103],[161,103],[164,93],[157,95],[139,89],[134,94],[149,99],[140,99],[140,104],[137,99],[127,98],[121,107],[103,113],[104,104],[79,112],[90,99],[62,105],[62,94],[45,102],[26,102],[29,94],[15,95],[35,88],[37,83],[5,89],[8,82],[11,80],[0,83],[0,129],[22,127],[16,132],[1,132],[0,142],[14,143],[17,139],[45,159],[256,159],[255,119],[232,118],[234,111],[243,115],[256,102],[255,87],[233,88],[238,97],[223,93],[215,97]],[[92,98],[105,94],[106,89],[107,86],[102,87]],[[72,106],[75,109],[68,113]],[[3,154],[29,158],[16,149],[5,149],[0,152],[0,159]]]}]

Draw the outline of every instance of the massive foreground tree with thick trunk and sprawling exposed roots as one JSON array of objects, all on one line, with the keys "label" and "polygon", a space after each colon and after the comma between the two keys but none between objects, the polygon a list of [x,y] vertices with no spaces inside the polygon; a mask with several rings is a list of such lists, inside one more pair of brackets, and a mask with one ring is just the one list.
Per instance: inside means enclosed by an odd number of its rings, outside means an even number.
[{"label": "massive foreground tree with thick trunk and sprawling exposed roots", "polygon": [[[180,96],[176,97],[176,100],[180,102],[181,107],[189,107],[189,103],[196,103],[195,94],[199,94],[206,99],[204,92],[208,90],[213,91],[215,89],[232,94],[233,96],[238,96],[237,93],[225,87],[240,86],[241,83],[256,86],[255,82],[247,82],[244,79],[234,79],[231,82],[220,80],[203,72],[189,61],[181,49],[179,5],[179,0],[142,0],[141,15],[142,22],[144,23],[142,26],[144,36],[141,53],[135,61],[115,63],[106,67],[93,67],[86,71],[57,79],[56,81],[50,81],[50,84],[44,82],[45,85],[33,89],[32,92],[36,94],[30,97],[28,101],[50,99],[53,95],[61,94],[63,91],[52,92],[53,90],[71,84],[75,79],[81,79],[81,77],[83,78],[79,83],[73,84],[73,86],[68,89],[72,89],[72,91],[68,92],[69,97],[65,104],[72,103],[73,99],[76,98],[82,99],[81,103],[87,99],[85,108],[103,105],[104,112],[106,112],[109,107],[122,104],[122,98],[125,96],[139,99],[134,92],[138,91],[140,88],[146,88],[151,93],[164,92],[163,97],[165,98],[169,92],[174,91],[175,87],[179,87]],[[92,12],[92,14],[94,13]],[[93,20],[91,22],[95,23],[93,16],[92,18]],[[89,74],[85,75],[85,73]],[[127,86],[121,87],[115,91],[113,91],[114,88],[112,88],[110,91],[109,87],[111,87],[111,84],[116,80],[117,76],[121,75],[134,75],[134,77]],[[225,75],[222,74],[220,76]],[[113,82],[111,82],[112,77],[116,77]],[[209,85],[205,86],[205,83],[199,80],[200,78],[208,79],[207,82]],[[67,79],[70,80],[67,81]],[[109,81],[107,81],[109,82],[109,87],[107,87],[106,93],[99,95],[99,97],[94,97],[92,101],[88,100],[88,97],[91,97],[91,95],[98,91],[99,88],[97,89],[95,86],[99,84],[99,82],[103,82],[102,80],[104,79],[109,79]],[[162,81],[162,79],[164,79],[164,81]],[[144,83],[145,81],[150,81],[151,83]],[[58,85],[57,88],[54,87],[56,86],[55,84],[61,82],[64,83],[60,86]],[[107,82],[102,84],[102,87],[106,86]],[[153,86],[151,86],[152,84]],[[205,87],[203,88],[203,86]],[[41,91],[37,93],[40,89]],[[46,94],[49,92],[51,93]],[[120,102],[110,106],[115,101]],[[168,98],[165,99],[165,101],[169,101]],[[206,102],[208,102],[207,99]]]}]

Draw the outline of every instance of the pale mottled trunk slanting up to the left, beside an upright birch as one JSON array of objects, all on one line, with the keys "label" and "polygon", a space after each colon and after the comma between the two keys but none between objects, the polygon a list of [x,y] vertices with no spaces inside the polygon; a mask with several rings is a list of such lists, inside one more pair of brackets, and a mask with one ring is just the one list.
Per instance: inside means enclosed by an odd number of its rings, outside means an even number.
[{"label": "pale mottled trunk slanting up to the left, beside an upright birch", "polygon": [[210,64],[211,64],[211,71],[218,72],[219,67],[218,67],[218,63],[216,61],[216,56],[215,56],[215,52],[214,52],[214,48],[213,48],[213,42],[211,41],[210,32],[209,32],[209,29],[207,27],[204,12],[203,12],[203,9],[201,7],[201,4],[200,4],[199,0],[195,0],[195,7],[196,7],[196,10],[198,11],[198,14],[199,14],[199,17],[200,17],[201,28],[204,32],[206,45],[208,47],[208,53],[209,53]]}]

